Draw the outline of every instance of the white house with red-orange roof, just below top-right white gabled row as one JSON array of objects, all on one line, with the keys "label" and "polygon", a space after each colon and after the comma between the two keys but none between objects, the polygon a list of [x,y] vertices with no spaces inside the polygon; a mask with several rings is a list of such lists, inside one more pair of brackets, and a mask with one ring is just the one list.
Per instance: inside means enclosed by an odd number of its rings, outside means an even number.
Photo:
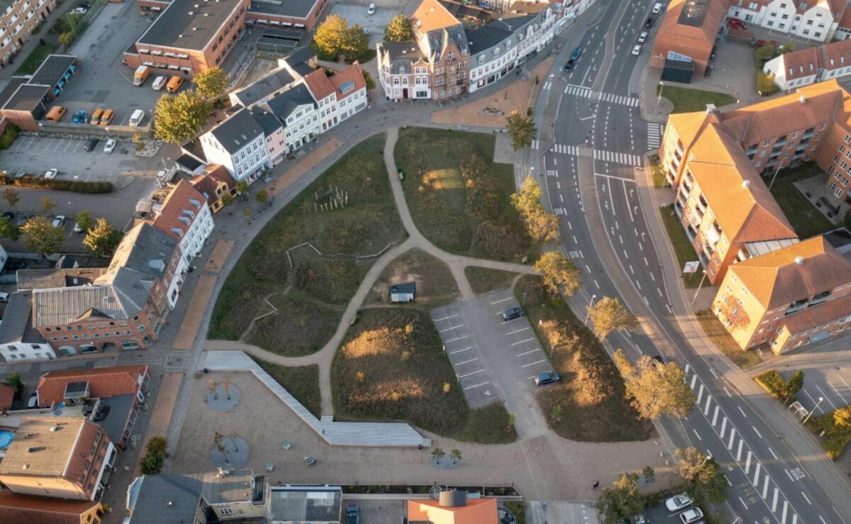
[{"label": "white house with red-orange roof, just below top-right white gabled row", "polygon": [[851,40],[780,54],[762,66],[783,91],[851,75]]}]

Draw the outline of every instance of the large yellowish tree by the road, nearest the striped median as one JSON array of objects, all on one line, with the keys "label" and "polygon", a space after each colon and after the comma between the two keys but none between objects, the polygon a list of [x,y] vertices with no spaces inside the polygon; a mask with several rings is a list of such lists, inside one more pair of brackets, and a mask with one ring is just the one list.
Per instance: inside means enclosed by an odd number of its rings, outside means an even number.
[{"label": "large yellowish tree by the road, nearest the striped median", "polygon": [[664,415],[682,419],[691,411],[694,392],[685,383],[683,369],[674,362],[660,364],[644,355],[633,365],[622,350],[617,350],[614,364],[624,378],[626,395],[643,419]]}]

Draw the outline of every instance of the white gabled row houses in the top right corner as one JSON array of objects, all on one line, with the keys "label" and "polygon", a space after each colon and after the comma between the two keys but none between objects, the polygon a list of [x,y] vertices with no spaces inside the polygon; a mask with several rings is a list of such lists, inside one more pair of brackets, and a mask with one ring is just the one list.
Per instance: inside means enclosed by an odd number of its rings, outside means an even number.
[{"label": "white gabled row houses in the top right corner", "polygon": [[790,37],[830,42],[846,10],[845,0],[734,0],[729,14]]}]

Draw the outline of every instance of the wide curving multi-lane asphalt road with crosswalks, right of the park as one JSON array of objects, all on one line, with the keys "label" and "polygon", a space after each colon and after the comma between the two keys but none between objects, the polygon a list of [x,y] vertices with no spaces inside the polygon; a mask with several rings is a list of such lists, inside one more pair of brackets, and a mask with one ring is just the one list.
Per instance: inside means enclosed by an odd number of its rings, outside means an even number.
[{"label": "wide curving multi-lane asphalt road with crosswalks, right of the park", "polygon": [[[638,34],[646,31],[643,23],[651,6],[648,0],[608,3],[595,25],[568,37],[562,54],[565,60],[575,46],[584,50],[574,70],[557,72],[543,85],[545,91],[562,91],[554,140],[536,142],[533,148],[543,154],[545,195],[561,218],[564,250],[583,271],[587,304],[603,296],[624,301],[598,255],[600,248],[610,249],[620,271],[677,348],[678,354],[668,357],[686,369],[697,402],[686,419],[665,419],[662,424],[676,447],[698,447],[722,464],[730,488],[727,502],[717,510],[729,522],[847,522],[847,498],[831,500],[810,475],[808,458],[797,457],[786,447],[675,328],[635,178],[637,166],[647,151],[658,147],[659,140],[658,124],[641,119],[637,94],[630,92],[630,85],[637,85],[633,77],[642,74],[652,48],[651,36],[640,56],[631,54]],[[608,64],[607,55],[611,57]],[[603,218],[605,238],[591,235],[586,218],[591,206]],[[643,334],[615,333],[610,342],[633,357],[660,353]]]}]

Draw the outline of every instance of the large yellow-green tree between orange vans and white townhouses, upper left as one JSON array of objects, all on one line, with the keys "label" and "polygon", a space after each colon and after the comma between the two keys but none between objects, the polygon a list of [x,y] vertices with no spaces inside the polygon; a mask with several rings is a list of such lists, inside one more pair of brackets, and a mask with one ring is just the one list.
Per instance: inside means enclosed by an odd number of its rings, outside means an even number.
[{"label": "large yellow-green tree between orange vans and white townhouses, upper left", "polygon": [[159,140],[180,145],[195,137],[198,128],[207,122],[212,107],[192,89],[177,96],[163,94],[154,111],[154,134]]}]

